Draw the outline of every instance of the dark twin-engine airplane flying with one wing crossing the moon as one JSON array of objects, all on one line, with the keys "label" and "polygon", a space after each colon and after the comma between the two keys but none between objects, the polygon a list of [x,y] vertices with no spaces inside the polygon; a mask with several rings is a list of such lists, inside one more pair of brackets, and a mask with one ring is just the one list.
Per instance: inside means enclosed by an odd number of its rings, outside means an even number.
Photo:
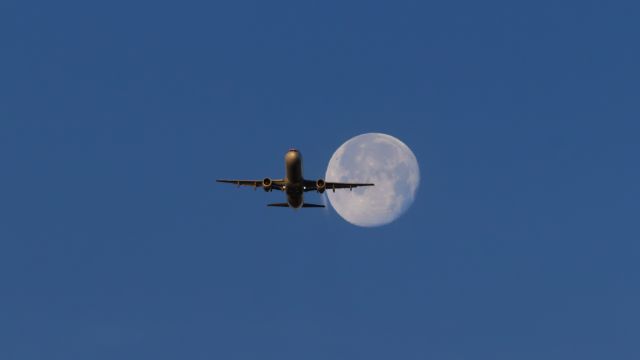
[{"label": "dark twin-engine airplane flying with one wing crossing the moon", "polygon": [[322,194],[325,190],[330,189],[336,192],[336,189],[349,189],[352,190],[355,187],[360,186],[374,186],[370,183],[340,183],[340,182],[327,182],[324,179],[318,179],[316,181],[305,180],[302,176],[302,155],[300,151],[296,149],[289,149],[284,156],[285,164],[285,178],[284,179],[270,179],[264,178],[263,180],[216,180],[216,182],[235,184],[240,186],[253,186],[253,189],[262,187],[266,192],[273,190],[284,191],[287,194],[286,203],[268,204],[267,206],[273,207],[289,207],[293,209],[300,208],[323,208],[324,205],[309,204],[304,202],[304,193],[307,191],[317,191]]}]

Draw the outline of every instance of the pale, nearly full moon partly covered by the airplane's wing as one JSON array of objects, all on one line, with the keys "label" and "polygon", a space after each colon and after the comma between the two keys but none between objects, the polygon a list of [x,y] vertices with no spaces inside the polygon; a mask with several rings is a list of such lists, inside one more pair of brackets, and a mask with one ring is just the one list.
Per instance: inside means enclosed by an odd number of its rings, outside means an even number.
[{"label": "pale, nearly full moon partly covered by the airplane's wing", "polygon": [[420,185],[418,160],[397,138],[368,133],[349,139],[335,151],[327,181],[374,183],[353,191],[327,190],[331,206],[346,221],[365,227],[389,224],[413,203]]}]

